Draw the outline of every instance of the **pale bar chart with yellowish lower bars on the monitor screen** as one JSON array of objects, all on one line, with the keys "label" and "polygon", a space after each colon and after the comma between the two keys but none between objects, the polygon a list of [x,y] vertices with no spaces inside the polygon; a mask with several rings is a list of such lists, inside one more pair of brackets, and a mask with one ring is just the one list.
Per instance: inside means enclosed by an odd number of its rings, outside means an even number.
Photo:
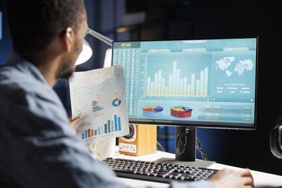
[{"label": "pale bar chart with yellowish lower bars on the monitor screen", "polygon": [[177,61],[173,61],[170,70],[166,76],[161,69],[155,73],[147,71],[146,96],[208,96],[209,67],[185,74],[185,70],[181,73]]}]

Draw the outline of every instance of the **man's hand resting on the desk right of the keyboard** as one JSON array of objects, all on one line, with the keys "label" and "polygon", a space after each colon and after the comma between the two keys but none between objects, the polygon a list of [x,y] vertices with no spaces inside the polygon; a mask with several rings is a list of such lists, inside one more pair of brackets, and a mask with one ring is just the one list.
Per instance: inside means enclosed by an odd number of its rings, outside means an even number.
[{"label": "man's hand resting on the desk right of the keyboard", "polygon": [[254,180],[250,170],[247,169],[238,171],[223,169],[212,175],[212,177],[209,177],[209,181],[213,182],[216,188],[254,187]]}]

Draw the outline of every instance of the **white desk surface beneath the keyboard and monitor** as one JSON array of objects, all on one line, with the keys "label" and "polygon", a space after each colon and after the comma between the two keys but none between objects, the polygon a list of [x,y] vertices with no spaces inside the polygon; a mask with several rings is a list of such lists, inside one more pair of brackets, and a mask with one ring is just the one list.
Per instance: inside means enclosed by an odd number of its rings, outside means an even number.
[{"label": "white desk surface beneath the keyboard and monitor", "polygon": [[[152,153],[146,156],[125,156],[123,154],[116,152],[114,158],[127,158],[127,159],[140,160],[140,161],[156,161],[159,158],[175,158],[175,155],[173,153],[157,151],[156,153]],[[221,170],[223,168],[229,168],[233,170],[242,169],[242,168],[233,167],[231,165],[223,165],[219,163],[213,163],[208,168],[212,168],[216,170]],[[273,175],[269,173],[262,173],[256,170],[250,170],[250,171],[254,178],[255,187],[257,188],[282,187],[282,176]],[[169,184],[159,183],[159,182],[133,180],[133,179],[121,178],[121,177],[117,177],[117,180],[123,182],[124,184],[128,184],[130,187],[140,187],[140,186],[146,186],[146,185],[152,186],[152,187],[169,187]]]}]

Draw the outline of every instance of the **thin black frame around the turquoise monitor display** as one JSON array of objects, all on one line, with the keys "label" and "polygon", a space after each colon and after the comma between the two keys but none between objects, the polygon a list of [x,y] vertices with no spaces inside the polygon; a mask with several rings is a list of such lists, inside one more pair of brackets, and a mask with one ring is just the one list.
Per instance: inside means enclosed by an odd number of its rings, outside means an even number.
[{"label": "thin black frame around the turquoise monitor display", "polygon": [[[136,118],[128,118],[130,124],[135,125],[158,125],[158,126],[173,126],[173,127],[199,127],[199,128],[213,128],[213,129],[228,129],[228,130],[256,130],[257,129],[257,87],[258,87],[258,58],[259,58],[259,37],[214,37],[214,38],[198,38],[198,39],[164,39],[164,40],[135,40],[135,41],[114,41],[112,43],[112,48],[114,48],[114,43],[116,42],[169,42],[169,41],[193,41],[193,40],[214,40],[214,39],[256,39],[256,68],[255,68],[255,115],[254,123],[219,123],[219,122],[196,122],[192,123],[169,123],[170,120],[148,120],[145,122],[145,119],[136,120]],[[113,65],[113,56],[111,55],[111,65]],[[143,121],[141,121],[143,120]],[[183,121],[182,121],[183,122]],[[209,125],[205,125],[205,123]],[[217,124],[217,125],[216,125]],[[250,127],[246,127],[250,125]]]}]

